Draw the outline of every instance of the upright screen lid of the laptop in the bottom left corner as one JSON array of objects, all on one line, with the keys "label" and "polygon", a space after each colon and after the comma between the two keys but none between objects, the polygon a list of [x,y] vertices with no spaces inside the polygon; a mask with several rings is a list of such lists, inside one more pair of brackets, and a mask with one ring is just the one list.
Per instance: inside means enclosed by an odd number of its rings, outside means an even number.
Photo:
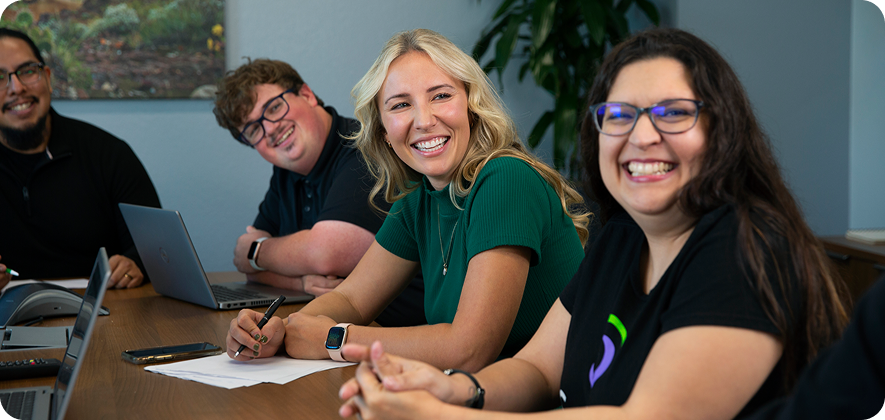
[{"label": "upright screen lid of the laptop in the bottom left corner", "polygon": [[65,357],[62,360],[61,368],[58,370],[58,378],[55,380],[51,411],[51,418],[53,419],[64,418],[64,412],[71,399],[70,394],[74,387],[74,381],[77,380],[77,374],[83,366],[81,356],[86,351],[89,337],[92,335],[92,329],[95,328],[95,320],[98,318],[98,311],[96,309],[101,305],[110,277],[111,268],[108,263],[108,254],[104,248],[101,248],[98,250],[98,256],[95,258],[92,275],[89,276],[89,284],[86,286],[86,292],[83,294],[83,303],[80,305],[77,320],[74,321],[71,339],[67,350],[65,350]]}]

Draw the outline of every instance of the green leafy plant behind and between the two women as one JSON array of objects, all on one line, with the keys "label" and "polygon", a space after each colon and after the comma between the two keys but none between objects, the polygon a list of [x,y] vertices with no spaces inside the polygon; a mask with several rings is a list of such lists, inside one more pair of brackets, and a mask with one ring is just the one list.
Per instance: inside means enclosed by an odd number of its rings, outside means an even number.
[{"label": "green leafy plant behind and between the two women", "polygon": [[535,122],[527,138],[535,148],[553,125],[553,164],[571,179],[581,175],[578,164],[578,123],[605,52],[629,33],[626,14],[633,5],[655,25],[657,7],[649,0],[503,0],[473,48],[486,73],[501,75],[516,54],[527,58],[519,80],[531,73],[535,83],[555,99],[552,110]]}]

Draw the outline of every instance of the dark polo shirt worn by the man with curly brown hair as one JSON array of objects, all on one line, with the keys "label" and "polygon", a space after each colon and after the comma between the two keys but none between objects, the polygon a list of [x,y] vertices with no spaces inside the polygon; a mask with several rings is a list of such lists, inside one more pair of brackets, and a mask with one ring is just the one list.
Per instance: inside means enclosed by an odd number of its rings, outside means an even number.
[{"label": "dark polo shirt worn by the man with curly brown hair", "polygon": [[[323,220],[338,220],[378,233],[384,213],[369,206],[369,193],[375,180],[369,174],[360,152],[349,136],[359,129],[359,122],[332,116],[332,127],[317,163],[307,175],[274,166],[270,188],[258,206],[253,226],[274,236],[285,236],[311,229]],[[379,194],[375,204],[384,211],[390,203]],[[424,280],[420,273],[375,322],[385,327],[426,324],[424,317]]]}]

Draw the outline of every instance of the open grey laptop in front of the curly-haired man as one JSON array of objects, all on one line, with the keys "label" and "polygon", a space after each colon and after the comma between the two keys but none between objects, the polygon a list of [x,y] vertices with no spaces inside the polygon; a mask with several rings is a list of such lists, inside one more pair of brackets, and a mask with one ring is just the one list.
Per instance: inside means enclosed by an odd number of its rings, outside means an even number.
[{"label": "open grey laptop in front of the curly-haired man", "polygon": [[[180,213],[124,203],[120,211],[154,290],[163,296],[225,310],[266,307],[280,295],[286,296],[287,304],[313,299],[303,292],[247,282],[242,273],[236,275],[243,281],[211,284]],[[227,273],[212,274],[230,278]]]}]

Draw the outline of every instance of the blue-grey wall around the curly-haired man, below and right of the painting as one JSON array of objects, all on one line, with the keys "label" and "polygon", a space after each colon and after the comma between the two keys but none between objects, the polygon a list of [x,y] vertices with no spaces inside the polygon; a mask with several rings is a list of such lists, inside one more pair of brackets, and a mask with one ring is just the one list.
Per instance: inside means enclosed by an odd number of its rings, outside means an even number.
[{"label": "blue-grey wall around the curly-haired man, below and right of the painting", "polygon": [[[498,3],[227,0],[227,66],[238,67],[243,56],[287,61],[327,104],[350,116],[350,89],[390,36],[428,28],[469,53]],[[502,96],[527,133],[552,100],[530,81],[518,84],[518,68],[511,64]],[[53,106],[126,140],[163,207],[182,213],[204,268],[233,269],[235,240],[255,217],[271,166],[218,127],[210,101],[56,100]]]}]

